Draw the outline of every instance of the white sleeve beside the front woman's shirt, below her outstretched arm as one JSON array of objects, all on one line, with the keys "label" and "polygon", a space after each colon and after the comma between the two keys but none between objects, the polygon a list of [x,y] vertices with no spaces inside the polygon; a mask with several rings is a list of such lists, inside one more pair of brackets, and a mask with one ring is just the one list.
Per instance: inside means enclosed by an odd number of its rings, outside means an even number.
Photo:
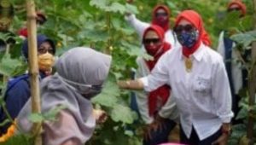
[{"label": "white sleeve beside the front woman's shirt, below her outstretched arm", "polygon": [[166,104],[163,107],[161,107],[159,115],[162,118],[172,119],[172,120],[175,120],[176,122],[179,122],[179,113],[177,111],[177,106],[176,106],[175,99],[172,95],[172,91],[171,91],[171,96],[168,98]]}]

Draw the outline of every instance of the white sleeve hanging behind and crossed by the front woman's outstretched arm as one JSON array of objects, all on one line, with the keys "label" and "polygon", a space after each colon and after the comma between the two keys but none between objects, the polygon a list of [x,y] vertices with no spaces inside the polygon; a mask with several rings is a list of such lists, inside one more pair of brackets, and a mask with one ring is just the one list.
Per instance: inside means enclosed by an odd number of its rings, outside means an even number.
[{"label": "white sleeve hanging behind and crossed by the front woman's outstretched arm", "polygon": [[[137,59],[137,73],[136,78],[141,78],[149,73],[147,69],[145,68],[146,65],[143,63],[143,59],[139,58]],[[140,115],[143,119],[143,121],[146,124],[151,124],[154,121],[153,117],[149,116],[149,110],[148,110],[148,93],[144,91],[137,91],[136,92],[136,101],[137,101],[137,107],[139,108]]]}]

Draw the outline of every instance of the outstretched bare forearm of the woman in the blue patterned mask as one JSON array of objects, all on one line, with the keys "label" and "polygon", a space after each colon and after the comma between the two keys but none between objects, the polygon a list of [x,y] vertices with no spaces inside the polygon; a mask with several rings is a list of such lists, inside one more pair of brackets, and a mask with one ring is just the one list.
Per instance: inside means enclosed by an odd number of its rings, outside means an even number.
[{"label": "outstretched bare forearm of the woman in the blue patterned mask", "polygon": [[127,90],[143,90],[144,88],[143,82],[139,79],[119,81],[118,85],[120,88]]}]

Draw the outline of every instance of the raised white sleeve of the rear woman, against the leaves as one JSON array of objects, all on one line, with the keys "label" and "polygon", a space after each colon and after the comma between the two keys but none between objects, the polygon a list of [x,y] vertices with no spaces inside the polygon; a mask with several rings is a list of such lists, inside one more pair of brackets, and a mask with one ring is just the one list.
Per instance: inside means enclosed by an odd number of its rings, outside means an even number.
[{"label": "raised white sleeve of the rear woman, against the leaves", "polygon": [[143,38],[143,32],[148,28],[148,26],[150,26],[150,24],[138,20],[135,14],[125,16],[125,20],[130,23],[141,39]]}]

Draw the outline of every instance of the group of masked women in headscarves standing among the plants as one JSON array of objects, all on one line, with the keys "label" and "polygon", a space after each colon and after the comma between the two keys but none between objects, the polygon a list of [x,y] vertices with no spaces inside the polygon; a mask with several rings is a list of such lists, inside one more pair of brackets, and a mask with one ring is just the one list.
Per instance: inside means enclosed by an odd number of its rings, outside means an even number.
[{"label": "group of masked women in headscarves standing among the plants", "polygon": [[[126,2],[132,4],[132,0]],[[232,0],[227,6],[227,13],[237,11],[240,17],[246,15],[246,10],[240,0]],[[17,34],[9,32],[14,15],[12,4],[0,3],[0,32],[24,39],[20,55],[29,62],[26,27],[21,27]],[[214,50],[201,14],[193,9],[180,12],[173,27],[170,16],[166,5],[154,7],[149,23],[130,12],[125,14],[125,20],[140,38],[144,53],[152,59],[138,57],[136,79],[119,80],[117,84],[121,89],[144,90],[136,93],[137,112],[146,126],[143,145],[168,142],[176,126],[181,144],[224,145],[230,136],[231,123],[239,122],[235,119],[239,90],[247,84],[247,71],[241,64],[230,61],[241,57],[234,49],[236,43],[229,32],[223,31],[217,51]],[[38,11],[38,26],[45,22],[46,15]],[[15,39],[1,39],[0,53],[12,44]],[[95,49],[76,47],[55,61],[53,38],[38,34],[37,44],[42,113],[63,106],[55,122],[44,121],[43,142],[84,144],[93,136],[96,123],[107,119],[104,111],[93,108],[90,99],[101,93],[112,58]],[[0,142],[8,140],[7,134],[14,125],[21,133],[32,130],[28,119],[32,113],[29,79],[25,73],[8,81],[4,93],[8,114],[0,107],[0,123],[9,117],[14,122],[0,126]]]}]

